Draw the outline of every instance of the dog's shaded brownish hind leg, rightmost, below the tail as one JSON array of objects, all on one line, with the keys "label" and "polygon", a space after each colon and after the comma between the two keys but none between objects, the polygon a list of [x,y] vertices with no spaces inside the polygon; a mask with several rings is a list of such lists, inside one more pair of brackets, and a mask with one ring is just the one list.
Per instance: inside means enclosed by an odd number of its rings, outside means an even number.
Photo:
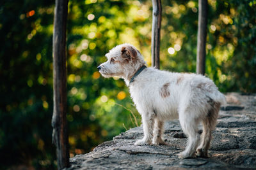
[{"label": "dog's shaded brownish hind leg, rightmost, below the tail", "polygon": [[213,131],[216,126],[219,110],[220,103],[212,103],[212,107],[209,110],[207,117],[202,120],[203,133],[201,136],[201,143],[198,148],[196,148],[196,155],[198,157],[209,157],[208,150],[212,139],[211,131]]}]

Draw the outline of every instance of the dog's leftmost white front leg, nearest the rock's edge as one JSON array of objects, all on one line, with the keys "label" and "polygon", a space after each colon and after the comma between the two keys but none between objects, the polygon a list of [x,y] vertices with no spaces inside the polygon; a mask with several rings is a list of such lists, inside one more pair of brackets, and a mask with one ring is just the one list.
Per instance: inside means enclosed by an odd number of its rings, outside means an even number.
[{"label": "dog's leftmost white front leg, nearest the rock's edge", "polygon": [[141,114],[142,117],[142,124],[143,124],[143,132],[144,137],[134,145],[150,145],[152,143],[153,138],[153,127],[154,127],[154,113],[144,113]]}]

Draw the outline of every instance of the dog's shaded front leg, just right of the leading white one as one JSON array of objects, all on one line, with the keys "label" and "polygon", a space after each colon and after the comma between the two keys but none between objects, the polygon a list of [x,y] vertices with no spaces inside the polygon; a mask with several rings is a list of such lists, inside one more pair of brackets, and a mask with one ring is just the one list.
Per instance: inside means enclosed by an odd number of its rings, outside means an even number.
[{"label": "dog's shaded front leg, just right of the leading white one", "polygon": [[164,131],[163,126],[164,126],[164,122],[159,120],[158,118],[155,118],[154,133],[153,133],[154,137],[152,141],[154,145],[159,145],[159,144],[167,145],[162,138],[163,131]]}]

